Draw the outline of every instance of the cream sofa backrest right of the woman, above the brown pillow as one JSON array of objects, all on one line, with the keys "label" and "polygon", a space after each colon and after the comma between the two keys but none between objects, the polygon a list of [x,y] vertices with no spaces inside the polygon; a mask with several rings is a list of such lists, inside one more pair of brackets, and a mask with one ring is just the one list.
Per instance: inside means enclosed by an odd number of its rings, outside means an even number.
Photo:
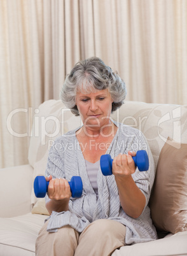
[{"label": "cream sofa backrest right of the woman, above the brown pillow", "polygon": [[[118,113],[119,112],[119,113]],[[148,140],[155,168],[167,138],[187,143],[187,106],[127,101],[114,119],[139,129]]]}]

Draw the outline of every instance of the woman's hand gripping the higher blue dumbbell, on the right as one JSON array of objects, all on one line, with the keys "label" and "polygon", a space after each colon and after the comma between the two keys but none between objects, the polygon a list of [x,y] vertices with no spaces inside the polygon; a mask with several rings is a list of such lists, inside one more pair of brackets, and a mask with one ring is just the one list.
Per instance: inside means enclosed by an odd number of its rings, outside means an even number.
[{"label": "woman's hand gripping the higher blue dumbbell, on the right", "polygon": [[119,154],[114,157],[113,160],[113,174],[114,176],[120,176],[125,178],[135,173],[135,164],[132,157],[135,157],[136,153],[128,151],[128,155]]}]

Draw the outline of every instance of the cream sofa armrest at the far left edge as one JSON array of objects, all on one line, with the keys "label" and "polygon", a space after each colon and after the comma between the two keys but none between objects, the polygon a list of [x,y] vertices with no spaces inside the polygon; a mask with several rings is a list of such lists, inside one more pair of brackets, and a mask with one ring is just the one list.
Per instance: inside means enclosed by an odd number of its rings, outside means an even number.
[{"label": "cream sofa armrest at the far left edge", "polygon": [[0,169],[0,217],[31,212],[33,168],[27,164]]}]

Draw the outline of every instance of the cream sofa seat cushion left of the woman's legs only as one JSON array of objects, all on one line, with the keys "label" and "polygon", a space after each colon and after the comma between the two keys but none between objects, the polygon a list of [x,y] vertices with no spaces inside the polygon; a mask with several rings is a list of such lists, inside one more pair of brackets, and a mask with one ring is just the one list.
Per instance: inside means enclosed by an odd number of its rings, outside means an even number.
[{"label": "cream sofa seat cushion left of the woman's legs only", "polygon": [[38,232],[48,216],[28,213],[12,218],[0,218],[0,255],[35,255]]}]

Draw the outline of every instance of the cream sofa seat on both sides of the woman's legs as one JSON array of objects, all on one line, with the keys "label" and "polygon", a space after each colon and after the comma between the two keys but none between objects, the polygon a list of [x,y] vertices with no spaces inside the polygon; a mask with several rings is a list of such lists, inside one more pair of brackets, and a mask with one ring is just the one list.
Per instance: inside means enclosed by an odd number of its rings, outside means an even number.
[{"label": "cream sofa seat on both sides of the woman's legs", "polygon": [[[13,218],[0,218],[0,255],[34,256],[38,232],[48,216],[28,213]],[[123,246],[113,256],[123,255],[187,255],[187,232],[179,232],[163,239]]]}]

